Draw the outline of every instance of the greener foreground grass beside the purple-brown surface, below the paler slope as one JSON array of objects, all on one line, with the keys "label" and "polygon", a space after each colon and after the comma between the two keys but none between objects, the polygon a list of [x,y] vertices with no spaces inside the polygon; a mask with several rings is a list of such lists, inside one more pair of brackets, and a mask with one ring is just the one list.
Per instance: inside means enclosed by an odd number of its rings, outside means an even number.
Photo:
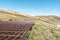
[{"label": "greener foreground grass beside the purple-brown surface, below the paler slope", "polygon": [[25,40],[60,40],[60,29],[49,27],[35,24]]}]

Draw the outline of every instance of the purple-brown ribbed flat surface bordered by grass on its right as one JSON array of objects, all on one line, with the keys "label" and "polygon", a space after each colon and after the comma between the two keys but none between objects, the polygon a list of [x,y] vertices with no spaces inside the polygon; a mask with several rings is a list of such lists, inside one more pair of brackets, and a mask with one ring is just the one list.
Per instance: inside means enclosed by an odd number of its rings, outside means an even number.
[{"label": "purple-brown ribbed flat surface bordered by grass on its right", "polygon": [[0,40],[23,40],[33,21],[0,21]]}]

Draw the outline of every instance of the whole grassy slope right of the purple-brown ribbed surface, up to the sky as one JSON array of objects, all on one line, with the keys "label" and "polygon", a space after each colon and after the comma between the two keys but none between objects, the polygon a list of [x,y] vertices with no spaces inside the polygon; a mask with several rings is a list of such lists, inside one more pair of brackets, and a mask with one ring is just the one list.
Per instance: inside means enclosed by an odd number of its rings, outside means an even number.
[{"label": "whole grassy slope right of the purple-brown ribbed surface, up to the sky", "polygon": [[60,20],[57,18],[55,16],[34,17],[35,25],[26,40],[60,40]]}]

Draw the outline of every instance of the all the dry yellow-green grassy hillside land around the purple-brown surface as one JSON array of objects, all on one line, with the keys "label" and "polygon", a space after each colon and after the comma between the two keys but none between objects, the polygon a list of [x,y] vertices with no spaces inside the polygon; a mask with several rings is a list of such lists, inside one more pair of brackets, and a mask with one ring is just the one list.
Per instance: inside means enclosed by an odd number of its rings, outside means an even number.
[{"label": "all the dry yellow-green grassy hillside land around the purple-brown surface", "polygon": [[60,17],[57,16],[29,16],[9,10],[0,10],[1,21],[34,19],[34,26],[25,40],[60,40]]}]

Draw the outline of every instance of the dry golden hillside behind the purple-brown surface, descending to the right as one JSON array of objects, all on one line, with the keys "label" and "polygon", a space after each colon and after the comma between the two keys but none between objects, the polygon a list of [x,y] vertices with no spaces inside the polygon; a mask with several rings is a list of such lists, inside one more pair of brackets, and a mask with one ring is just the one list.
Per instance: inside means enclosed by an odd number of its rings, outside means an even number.
[{"label": "dry golden hillside behind the purple-brown surface, descending to the right", "polygon": [[32,16],[30,15],[25,15],[25,14],[10,11],[10,10],[0,9],[0,20],[1,21],[28,20],[30,18],[32,18]]}]

